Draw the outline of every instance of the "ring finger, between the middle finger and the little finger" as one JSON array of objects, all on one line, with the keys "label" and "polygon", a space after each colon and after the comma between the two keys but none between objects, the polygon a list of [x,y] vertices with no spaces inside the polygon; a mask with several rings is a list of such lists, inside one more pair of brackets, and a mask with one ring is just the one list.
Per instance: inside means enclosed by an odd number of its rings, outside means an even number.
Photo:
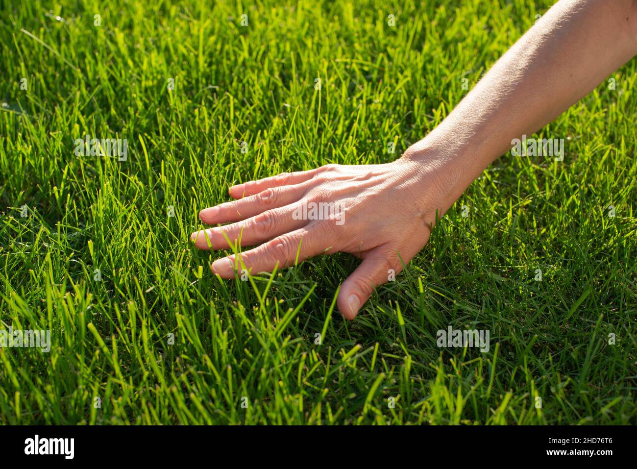
[{"label": "ring finger, between the middle finger and the little finger", "polygon": [[199,219],[209,225],[238,222],[266,210],[290,205],[301,199],[307,189],[308,187],[304,185],[271,187],[264,189],[259,194],[204,208],[199,212]]}]

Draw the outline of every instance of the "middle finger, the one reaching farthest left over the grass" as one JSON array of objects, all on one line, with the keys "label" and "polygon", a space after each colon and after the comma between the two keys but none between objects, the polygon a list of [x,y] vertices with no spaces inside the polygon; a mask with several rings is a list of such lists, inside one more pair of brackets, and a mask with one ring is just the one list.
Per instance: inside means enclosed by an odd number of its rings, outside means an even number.
[{"label": "middle finger, the one reaching farthest left over the grass", "polygon": [[298,205],[266,210],[238,223],[198,231],[191,238],[199,249],[228,249],[237,241],[241,246],[254,246],[306,226],[308,220],[294,219],[293,212]]}]

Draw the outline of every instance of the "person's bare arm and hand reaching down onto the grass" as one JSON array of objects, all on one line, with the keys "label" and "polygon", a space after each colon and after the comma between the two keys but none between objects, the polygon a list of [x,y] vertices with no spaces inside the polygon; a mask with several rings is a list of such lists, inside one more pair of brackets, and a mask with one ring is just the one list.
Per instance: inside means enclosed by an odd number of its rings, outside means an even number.
[{"label": "person's bare arm and hand reaching down onto the grass", "polygon": [[[343,317],[354,319],[389,271],[397,275],[426,245],[436,212],[443,215],[514,138],[554,120],[636,54],[637,0],[561,0],[396,161],[328,164],[233,185],[236,200],[199,213],[204,224],[225,225],[191,238],[200,249],[227,249],[226,236],[253,247],[240,259],[217,259],[211,270],[222,278],[354,254],[362,261],[337,298]],[[310,202],[340,205],[343,221],[292,216]]]}]

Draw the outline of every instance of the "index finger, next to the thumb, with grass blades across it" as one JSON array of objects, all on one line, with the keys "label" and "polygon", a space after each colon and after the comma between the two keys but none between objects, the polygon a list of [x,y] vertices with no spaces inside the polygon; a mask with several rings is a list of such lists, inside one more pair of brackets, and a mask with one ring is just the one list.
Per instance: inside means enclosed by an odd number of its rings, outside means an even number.
[{"label": "index finger, next to the thumb, with grass blades across it", "polygon": [[222,278],[234,278],[235,266],[238,271],[245,268],[252,275],[271,272],[275,267],[280,269],[294,265],[297,253],[299,262],[322,254],[329,249],[329,246],[323,245],[324,239],[326,236],[318,235],[315,229],[303,227],[238,254],[240,262],[237,262],[233,255],[217,259],[210,268]]}]

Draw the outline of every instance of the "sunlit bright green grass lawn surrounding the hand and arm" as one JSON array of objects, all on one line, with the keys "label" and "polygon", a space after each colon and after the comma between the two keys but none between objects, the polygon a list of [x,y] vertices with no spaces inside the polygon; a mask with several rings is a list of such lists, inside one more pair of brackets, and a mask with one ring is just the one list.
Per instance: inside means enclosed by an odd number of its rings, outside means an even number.
[{"label": "sunlit bright green grass lawn surrounding the hand and arm", "polygon": [[[398,157],[551,2],[59,4],[0,3],[0,329],[52,331],[0,349],[0,423],[637,421],[636,61],[542,129],[564,161],[497,160],[347,322],[353,257],[218,280],[198,211]],[[127,161],[76,156],[87,133]],[[489,352],[439,349],[448,325]]]}]

